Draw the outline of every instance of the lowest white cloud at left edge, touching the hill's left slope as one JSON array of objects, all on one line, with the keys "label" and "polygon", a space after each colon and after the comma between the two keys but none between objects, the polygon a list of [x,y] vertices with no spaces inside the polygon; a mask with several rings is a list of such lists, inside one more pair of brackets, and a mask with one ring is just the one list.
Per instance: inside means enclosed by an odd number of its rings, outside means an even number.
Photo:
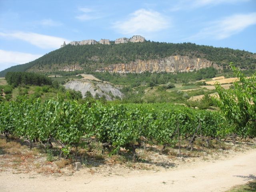
[{"label": "lowest white cloud at left edge, touching the hill's left slope", "polygon": [[33,61],[42,55],[0,50],[0,71],[14,65]]}]

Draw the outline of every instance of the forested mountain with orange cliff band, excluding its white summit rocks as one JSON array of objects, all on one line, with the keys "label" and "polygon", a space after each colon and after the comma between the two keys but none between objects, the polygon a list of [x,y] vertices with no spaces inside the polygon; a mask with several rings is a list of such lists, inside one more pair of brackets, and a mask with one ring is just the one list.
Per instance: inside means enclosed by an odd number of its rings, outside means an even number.
[{"label": "forested mountain with orange cliff band, excluding its white summit rocks", "polygon": [[213,66],[218,70],[234,64],[241,69],[256,69],[256,54],[244,50],[215,48],[192,43],[131,42],[110,44],[67,44],[44,56],[8,71],[62,72],[84,70],[109,72],[192,71]]}]

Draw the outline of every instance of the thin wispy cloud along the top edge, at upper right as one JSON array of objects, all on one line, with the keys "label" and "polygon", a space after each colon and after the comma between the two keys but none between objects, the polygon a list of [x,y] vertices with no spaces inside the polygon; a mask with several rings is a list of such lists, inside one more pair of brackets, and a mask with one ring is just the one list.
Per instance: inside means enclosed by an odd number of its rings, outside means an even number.
[{"label": "thin wispy cloud along the top edge, at upper right", "polygon": [[249,0],[181,0],[171,8],[171,11],[190,10],[204,6],[216,6],[218,4],[236,4]]}]

